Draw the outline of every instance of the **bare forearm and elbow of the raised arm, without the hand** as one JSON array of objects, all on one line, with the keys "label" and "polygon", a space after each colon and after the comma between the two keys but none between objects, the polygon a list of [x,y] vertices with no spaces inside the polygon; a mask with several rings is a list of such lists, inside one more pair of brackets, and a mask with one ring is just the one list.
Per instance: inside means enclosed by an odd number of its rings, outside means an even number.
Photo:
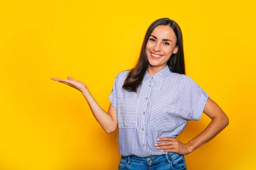
[{"label": "bare forearm and elbow of the raised arm, without the hand", "polygon": [[117,128],[116,110],[110,104],[108,108],[108,113],[105,112],[88,89],[82,91],[84,98],[86,99],[90,110],[93,113],[95,119],[99,122],[106,133],[113,133]]}]

